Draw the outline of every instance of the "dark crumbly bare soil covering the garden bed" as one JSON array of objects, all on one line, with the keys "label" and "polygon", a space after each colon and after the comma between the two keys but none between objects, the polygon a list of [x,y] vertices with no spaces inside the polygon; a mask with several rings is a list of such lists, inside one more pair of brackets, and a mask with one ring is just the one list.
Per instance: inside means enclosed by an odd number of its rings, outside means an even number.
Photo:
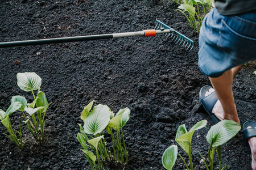
[{"label": "dark crumbly bare soil covering the garden bed", "polygon": [[[1,124],[0,169],[90,169],[77,141],[77,123],[82,124],[82,109],[92,100],[114,112],[131,110],[123,128],[130,155],[126,169],[164,169],[162,154],[176,144],[177,127],[185,124],[190,129],[208,120],[207,129],[196,131],[192,142],[195,169],[206,169],[197,151],[207,157],[205,137],[213,121],[196,110],[199,90],[210,82],[197,66],[199,35],[176,8],[171,0],[0,0],[1,42],[141,31],[154,28],[156,18],[195,42],[191,52],[161,35],[0,49],[0,108],[6,111],[15,95],[32,101],[16,84],[16,74],[24,72],[42,78],[41,90],[52,102],[45,142],[35,142],[23,125],[26,146],[19,150],[3,135]],[[249,63],[234,80],[241,124],[255,120],[255,67],[255,62]],[[19,116],[15,112],[10,117],[16,130]],[[227,169],[251,169],[246,143],[240,131],[223,146]],[[180,148],[179,153],[188,162]],[[104,167],[123,169],[114,163]],[[179,158],[174,169],[185,169]]]}]

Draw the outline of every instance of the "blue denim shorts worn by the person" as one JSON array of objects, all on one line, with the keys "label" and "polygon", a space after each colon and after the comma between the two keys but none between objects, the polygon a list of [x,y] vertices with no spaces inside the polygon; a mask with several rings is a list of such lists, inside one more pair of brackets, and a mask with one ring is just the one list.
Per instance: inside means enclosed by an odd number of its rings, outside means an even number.
[{"label": "blue denim shorts worn by the person", "polygon": [[213,8],[199,35],[199,69],[216,78],[256,59],[256,13],[224,16]]}]

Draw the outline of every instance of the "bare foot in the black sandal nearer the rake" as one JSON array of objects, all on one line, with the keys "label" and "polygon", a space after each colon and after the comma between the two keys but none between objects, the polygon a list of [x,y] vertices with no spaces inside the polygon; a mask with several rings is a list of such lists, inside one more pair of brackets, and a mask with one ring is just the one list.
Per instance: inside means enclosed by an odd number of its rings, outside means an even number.
[{"label": "bare foot in the black sandal nearer the rake", "polygon": [[[212,94],[212,92],[214,92],[213,88],[210,88],[208,92],[205,93],[205,96],[208,96],[210,94]],[[215,116],[223,121],[223,120],[233,120],[235,122],[237,122],[238,124],[240,124],[240,120],[238,117],[233,117],[233,115],[230,114],[225,114],[223,111],[223,108],[221,106],[220,100],[218,100],[216,102],[216,104],[214,105],[213,109],[212,109],[212,113],[215,114]]]}]

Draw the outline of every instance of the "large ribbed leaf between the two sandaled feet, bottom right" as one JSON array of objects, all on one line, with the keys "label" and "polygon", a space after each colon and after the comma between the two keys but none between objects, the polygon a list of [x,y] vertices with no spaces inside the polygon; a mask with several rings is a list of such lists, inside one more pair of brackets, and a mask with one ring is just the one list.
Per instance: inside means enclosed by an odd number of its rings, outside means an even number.
[{"label": "large ribbed leaf between the two sandaled feet, bottom right", "polygon": [[241,126],[231,120],[218,122],[218,124],[212,126],[212,128],[210,128],[208,131],[206,137],[207,142],[213,142],[213,147],[224,145],[224,143],[233,138],[240,129]]}]

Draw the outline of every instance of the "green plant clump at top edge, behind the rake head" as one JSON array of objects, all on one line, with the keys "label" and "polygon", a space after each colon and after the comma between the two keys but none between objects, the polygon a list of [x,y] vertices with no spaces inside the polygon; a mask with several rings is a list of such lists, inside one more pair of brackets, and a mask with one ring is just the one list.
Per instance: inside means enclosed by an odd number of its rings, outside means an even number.
[{"label": "green plant clump at top edge, behind the rake head", "polygon": [[[177,10],[185,15],[190,26],[199,32],[204,16],[210,11],[213,0],[182,0],[182,2],[181,0],[173,1],[180,5]],[[203,8],[204,12],[200,12],[200,8]]]}]

